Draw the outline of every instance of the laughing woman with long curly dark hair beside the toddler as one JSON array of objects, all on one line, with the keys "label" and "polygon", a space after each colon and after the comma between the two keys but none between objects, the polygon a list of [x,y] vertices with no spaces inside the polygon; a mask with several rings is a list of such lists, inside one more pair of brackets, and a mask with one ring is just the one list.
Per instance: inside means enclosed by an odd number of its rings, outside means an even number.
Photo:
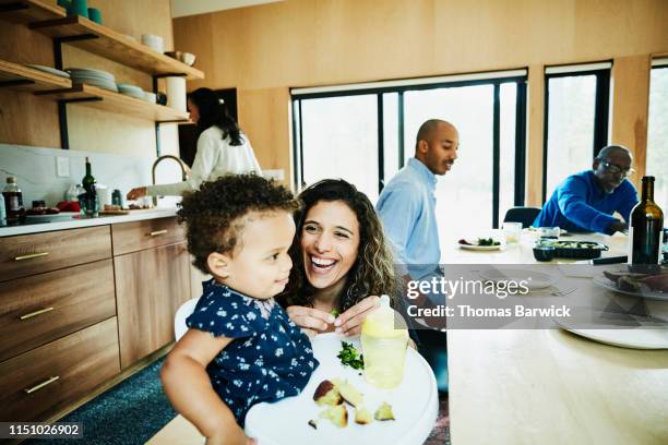
[{"label": "laughing woman with long curly dark hair beside the toddler", "polygon": [[[392,253],[373,205],[344,180],[303,190],[293,270],[282,303],[307,334],[358,335],[361,323],[396,279]],[[393,304],[394,305],[394,304]]]}]

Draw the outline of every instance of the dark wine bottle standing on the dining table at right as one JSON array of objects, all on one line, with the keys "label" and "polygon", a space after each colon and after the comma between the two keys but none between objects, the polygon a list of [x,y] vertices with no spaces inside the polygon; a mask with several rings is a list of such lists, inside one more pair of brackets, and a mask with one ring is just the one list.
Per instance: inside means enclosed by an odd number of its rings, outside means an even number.
[{"label": "dark wine bottle standing on the dining table at right", "polygon": [[654,177],[643,177],[642,200],[631,211],[629,265],[632,270],[659,270],[664,213],[654,202]]}]

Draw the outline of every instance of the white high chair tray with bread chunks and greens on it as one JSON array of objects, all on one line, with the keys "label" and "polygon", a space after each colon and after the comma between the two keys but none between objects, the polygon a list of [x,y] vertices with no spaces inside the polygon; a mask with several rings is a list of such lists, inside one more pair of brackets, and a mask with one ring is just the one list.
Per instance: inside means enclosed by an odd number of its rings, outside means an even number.
[{"label": "white high chair tray with bread chunks and greens on it", "polygon": [[353,352],[361,350],[359,337],[321,334],[312,345],[320,365],[307,386],[296,397],[253,406],[246,418],[248,436],[261,445],[409,445],[427,440],[437,420],[438,389],[417,351],[408,348],[399,386],[380,389],[365,380],[361,357]]}]

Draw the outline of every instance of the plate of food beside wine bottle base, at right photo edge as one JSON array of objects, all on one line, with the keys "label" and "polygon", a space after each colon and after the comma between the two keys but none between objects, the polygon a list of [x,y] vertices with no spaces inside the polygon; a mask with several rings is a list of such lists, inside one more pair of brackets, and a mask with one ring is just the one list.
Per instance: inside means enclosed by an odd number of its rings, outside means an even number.
[{"label": "plate of food beside wine bottle base, at right photo edge", "polygon": [[655,274],[637,274],[625,270],[605,270],[594,277],[600,287],[631,297],[668,301],[668,269]]}]

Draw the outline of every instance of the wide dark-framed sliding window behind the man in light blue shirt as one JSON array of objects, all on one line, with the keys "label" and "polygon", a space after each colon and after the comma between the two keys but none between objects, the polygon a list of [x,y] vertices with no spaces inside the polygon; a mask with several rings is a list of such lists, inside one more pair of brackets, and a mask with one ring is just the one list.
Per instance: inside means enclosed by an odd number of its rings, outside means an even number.
[{"label": "wide dark-framed sliding window behind the man in light blue shirt", "polygon": [[375,203],[414,156],[419,125],[443,119],[461,149],[437,185],[441,241],[498,227],[524,204],[525,82],[517,70],[293,89],[295,183],[341,177]]}]

